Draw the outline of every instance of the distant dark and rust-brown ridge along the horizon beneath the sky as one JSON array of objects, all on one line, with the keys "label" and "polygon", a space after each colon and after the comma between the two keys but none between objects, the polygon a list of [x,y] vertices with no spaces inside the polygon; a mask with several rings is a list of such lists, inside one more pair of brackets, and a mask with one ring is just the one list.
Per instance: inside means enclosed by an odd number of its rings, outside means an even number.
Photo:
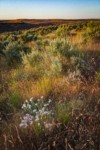
[{"label": "distant dark and rust-brown ridge along the horizon beneath the sky", "polygon": [[37,28],[41,26],[77,24],[88,21],[100,23],[100,19],[15,19],[0,20],[0,33]]}]

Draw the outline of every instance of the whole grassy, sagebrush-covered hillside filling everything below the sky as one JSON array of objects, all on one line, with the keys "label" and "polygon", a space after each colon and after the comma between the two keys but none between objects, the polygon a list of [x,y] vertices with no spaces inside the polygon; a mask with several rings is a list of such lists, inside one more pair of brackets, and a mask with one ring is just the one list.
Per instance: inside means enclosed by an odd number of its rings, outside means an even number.
[{"label": "whole grassy, sagebrush-covered hillside filling everything below the sky", "polygon": [[0,150],[99,150],[100,20],[0,25]]}]

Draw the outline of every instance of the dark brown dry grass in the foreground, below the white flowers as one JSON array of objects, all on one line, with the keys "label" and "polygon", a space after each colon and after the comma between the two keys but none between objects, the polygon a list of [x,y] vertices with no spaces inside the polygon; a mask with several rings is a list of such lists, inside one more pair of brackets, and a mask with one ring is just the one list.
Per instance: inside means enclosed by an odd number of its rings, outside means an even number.
[{"label": "dark brown dry grass in the foreground, below the white flowers", "polygon": [[51,132],[39,136],[31,128],[21,131],[18,126],[11,125],[10,130],[1,136],[0,146],[2,150],[65,150],[66,148],[98,150],[100,148],[99,106],[99,100],[87,102],[82,110],[75,110],[67,125],[55,126]]}]

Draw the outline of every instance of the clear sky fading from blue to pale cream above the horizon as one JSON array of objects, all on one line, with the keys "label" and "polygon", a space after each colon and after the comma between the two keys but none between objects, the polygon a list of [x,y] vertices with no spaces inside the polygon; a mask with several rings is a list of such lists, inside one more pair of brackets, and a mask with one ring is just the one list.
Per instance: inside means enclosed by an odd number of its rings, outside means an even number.
[{"label": "clear sky fading from blue to pale cream above the horizon", "polygon": [[0,0],[0,20],[100,19],[100,0]]}]

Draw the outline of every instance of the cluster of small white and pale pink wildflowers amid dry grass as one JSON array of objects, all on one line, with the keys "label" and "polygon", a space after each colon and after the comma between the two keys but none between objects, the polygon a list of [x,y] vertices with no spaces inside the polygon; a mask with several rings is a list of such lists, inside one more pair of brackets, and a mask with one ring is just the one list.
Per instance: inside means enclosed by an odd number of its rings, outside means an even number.
[{"label": "cluster of small white and pale pink wildflowers amid dry grass", "polygon": [[49,99],[47,102],[44,102],[43,96],[41,96],[41,98],[37,101],[35,101],[33,97],[31,97],[29,100],[26,100],[22,105],[22,110],[25,113],[25,116],[22,118],[19,127],[26,128],[35,122],[40,125],[40,122],[43,120],[43,118],[52,116],[53,112],[49,110],[51,102],[51,99]]}]

